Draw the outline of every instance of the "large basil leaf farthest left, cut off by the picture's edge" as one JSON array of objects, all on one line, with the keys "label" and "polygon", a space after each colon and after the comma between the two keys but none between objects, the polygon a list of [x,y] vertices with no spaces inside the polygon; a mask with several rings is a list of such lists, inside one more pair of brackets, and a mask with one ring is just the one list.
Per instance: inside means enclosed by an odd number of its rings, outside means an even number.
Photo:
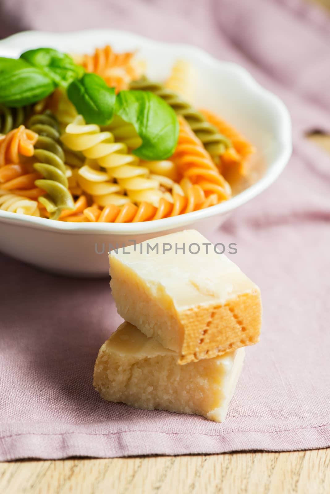
[{"label": "large basil leaf farthest left, cut off by the picture's edge", "polygon": [[25,60],[0,58],[0,103],[16,108],[30,105],[54,89],[53,81]]}]

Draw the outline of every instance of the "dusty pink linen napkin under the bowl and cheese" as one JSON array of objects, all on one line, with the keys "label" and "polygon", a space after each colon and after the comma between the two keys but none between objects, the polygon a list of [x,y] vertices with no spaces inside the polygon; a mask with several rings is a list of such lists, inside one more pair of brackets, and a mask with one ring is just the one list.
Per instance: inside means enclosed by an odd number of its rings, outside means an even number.
[{"label": "dusty pink linen napkin under the bowl and cheese", "polygon": [[226,421],[103,401],[93,365],[121,322],[108,280],[57,277],[1,254],[0,460],[330,446],[330,158],[304,136],[330,130],[326,15],[298,0],[2,0],[0,14],[3,36],[114,27],[198,44],[279,94],[294,136],[278,181],[209,236],[237,244],[232,259],[264,305]]}]

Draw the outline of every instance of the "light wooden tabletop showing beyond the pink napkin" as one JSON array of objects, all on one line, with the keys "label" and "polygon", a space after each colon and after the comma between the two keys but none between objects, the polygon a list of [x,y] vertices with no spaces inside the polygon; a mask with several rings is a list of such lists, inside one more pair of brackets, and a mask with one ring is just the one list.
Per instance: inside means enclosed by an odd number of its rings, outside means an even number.
[{"label": "light wooden tabletop showing beyond the pink napkin", "polygon": [[[316,1],[330,8],[330,0]],[[310,138],[330,153],[330,137]],[[330,494],[330,448],[0,463],[0,494]]]}]

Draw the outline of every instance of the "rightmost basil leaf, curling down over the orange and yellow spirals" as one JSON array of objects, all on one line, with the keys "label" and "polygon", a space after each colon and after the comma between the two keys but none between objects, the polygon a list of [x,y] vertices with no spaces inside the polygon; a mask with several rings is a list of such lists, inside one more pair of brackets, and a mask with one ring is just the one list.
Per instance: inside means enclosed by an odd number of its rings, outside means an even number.
[{"label": "rightmost basil leaf, curling down over the orange and yellow spirals", "polygon": [[133,154],[143,160],[165,160],[176,147],[179,124],[174,110],[150,91],[121,91],[115,113],[133,124],[142,145]]}]

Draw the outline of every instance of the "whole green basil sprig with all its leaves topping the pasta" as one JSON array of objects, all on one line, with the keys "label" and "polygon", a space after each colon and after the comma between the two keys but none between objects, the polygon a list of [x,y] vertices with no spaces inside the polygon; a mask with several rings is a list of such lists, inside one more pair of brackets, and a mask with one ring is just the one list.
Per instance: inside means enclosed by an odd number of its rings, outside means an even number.
[{"label": "whole green basil sprig with all its leaves topping the pasta", "polygon": [[142,140],[133,153],[144,160],[165,160],[178,140],[178,121],[172,108],[149,91],[121,91],[96,74],[84,74],[72,58],[53,48],[24,52],[16,60],[0,57],[0,103],[22,107],[40,101],[57,86],[88,124],[110,124],[114,114],[134,126]]}]

